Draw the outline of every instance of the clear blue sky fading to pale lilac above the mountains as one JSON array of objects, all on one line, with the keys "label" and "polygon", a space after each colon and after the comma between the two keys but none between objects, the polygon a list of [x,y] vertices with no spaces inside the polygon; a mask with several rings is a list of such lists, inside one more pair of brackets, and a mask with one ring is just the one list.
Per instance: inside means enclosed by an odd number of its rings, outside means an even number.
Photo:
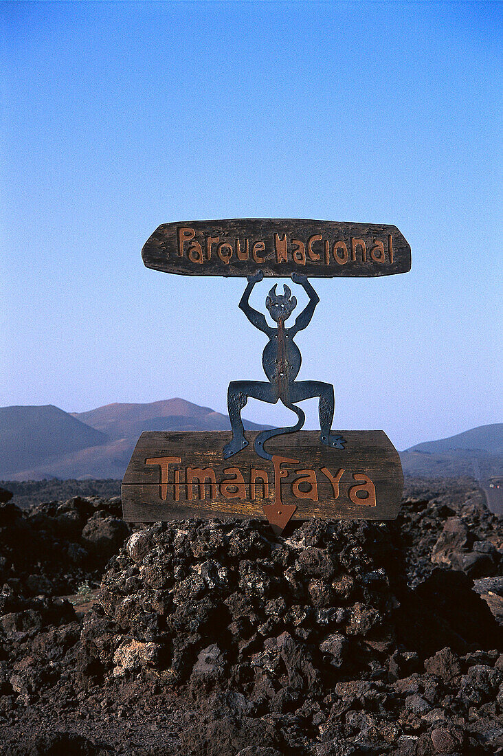
[{"label": "clear blue sky fading to pale lilac above the mountains", "polygon": [[324,218],[412,250],[405,275],[312,281],[299,378],[334,383],[334,427],[402,449],[501,422],[501,3],[0,13],[0,405],[225,412],[230,380],[263,377],[245,281],[147,270],[141,246],[163,222]]}]

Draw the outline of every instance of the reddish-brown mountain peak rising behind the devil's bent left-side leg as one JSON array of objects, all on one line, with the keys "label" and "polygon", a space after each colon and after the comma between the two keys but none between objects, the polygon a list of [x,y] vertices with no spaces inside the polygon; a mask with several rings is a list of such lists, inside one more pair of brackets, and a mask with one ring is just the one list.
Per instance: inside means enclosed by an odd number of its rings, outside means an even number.
[{"label": "reddish-brown mountain peak rising behind the devil's bent left-side leg", "polygon": [[[214,412],[210,407],[200,407],[185,399],[166,399],[151,404],[105,404],[88,412],[72,413],[82,423],[107,434],[109,438],[130,438],[144,430],[229,430],[227,415]],[[243,421],[247,430],[259,430],[258,426]]]}]

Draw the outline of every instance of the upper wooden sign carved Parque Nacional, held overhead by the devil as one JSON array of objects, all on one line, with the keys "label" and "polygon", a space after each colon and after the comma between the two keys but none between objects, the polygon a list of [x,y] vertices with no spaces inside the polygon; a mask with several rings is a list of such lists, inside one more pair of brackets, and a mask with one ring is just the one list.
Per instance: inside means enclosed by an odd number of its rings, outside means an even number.
[{"label": "upper wooden sign carved Parque Nacional, held overhead by the devil", "polygon": [[141,250],[147,268],[187,276],[386,276],[411,268],[392,225],[238,218],[164,223]]}]

